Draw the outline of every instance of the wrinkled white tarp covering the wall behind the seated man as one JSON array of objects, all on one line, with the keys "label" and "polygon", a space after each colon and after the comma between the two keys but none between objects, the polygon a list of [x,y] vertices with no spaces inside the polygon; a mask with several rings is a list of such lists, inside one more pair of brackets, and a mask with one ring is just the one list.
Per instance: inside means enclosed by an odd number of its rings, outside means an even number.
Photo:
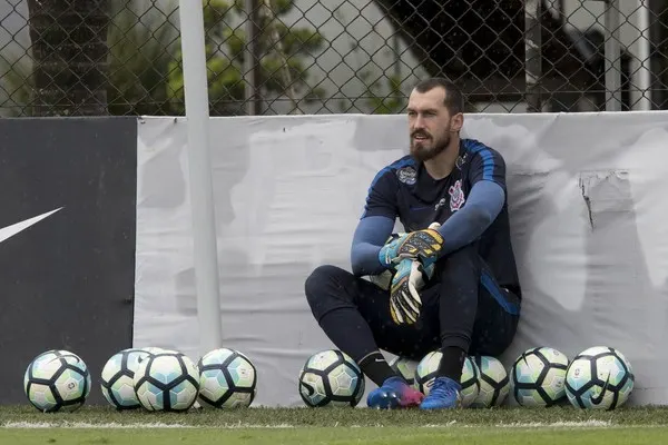
[{"label": "wrinkled white tarp covering the wall behind the seated man", "polygon": [[[524,303],[523,349],[619,348],[631,403],[668,403],[668,113],[472,115],[501,151]],[[304,279],[350,268],[375,172],[407,150],[403,116],[214,118],[224,344],[259,372],[257,405],[299,406],[297,375],[332,347]],[[139,122],[135,345],[199,356],[186,123]],[[369,386],[367,386],[369,388]]]}]

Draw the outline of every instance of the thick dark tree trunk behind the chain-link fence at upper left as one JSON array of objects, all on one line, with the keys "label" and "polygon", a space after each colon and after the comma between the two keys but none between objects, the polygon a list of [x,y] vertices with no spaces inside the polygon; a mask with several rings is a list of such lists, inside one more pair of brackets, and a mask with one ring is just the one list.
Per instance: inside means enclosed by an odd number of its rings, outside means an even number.
[{"label": "thick dark tree trunk behind the chain-link fence at upper left", "polygon": [[28,0],[32,115],[107,115],[108,0]]}]

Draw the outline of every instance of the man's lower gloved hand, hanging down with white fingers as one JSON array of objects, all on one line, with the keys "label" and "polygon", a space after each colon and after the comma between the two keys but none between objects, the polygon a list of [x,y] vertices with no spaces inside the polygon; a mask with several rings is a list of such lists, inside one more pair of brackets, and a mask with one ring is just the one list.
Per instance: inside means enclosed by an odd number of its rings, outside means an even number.
[{"label": "man's lower gloved hand, hanging down with white fingers", "polygon": [[404,258],[399,263],[390,287],[390,314],[395,324],[418,322],[422,308],[420,293],[433,270],[433,263],[426,269],[418,259]]}]

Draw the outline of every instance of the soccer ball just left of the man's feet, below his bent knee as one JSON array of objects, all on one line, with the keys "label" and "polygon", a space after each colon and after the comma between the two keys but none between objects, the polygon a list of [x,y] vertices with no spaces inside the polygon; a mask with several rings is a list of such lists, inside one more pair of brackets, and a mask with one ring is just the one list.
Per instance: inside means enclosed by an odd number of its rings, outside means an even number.
[{"label": "soccer ball just left of the man's feet, below his bent knee", "polygon": [[299,395],[311,407],[356,406],[364,395],[364,375],[347,354],[322,350],[299,373]]}]

